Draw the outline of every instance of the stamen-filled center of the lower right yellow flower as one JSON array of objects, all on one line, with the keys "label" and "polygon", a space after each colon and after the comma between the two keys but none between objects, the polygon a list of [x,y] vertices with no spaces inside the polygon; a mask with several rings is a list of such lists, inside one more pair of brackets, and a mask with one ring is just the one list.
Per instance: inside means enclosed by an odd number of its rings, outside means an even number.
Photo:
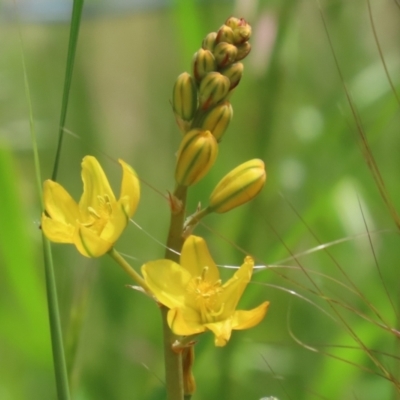
[{"label": "stamen-filled center of the lower right yellow flower", "polygon": [[218,301],[223,289],[220,279],[215,282],[207,279],[208,270],[209,268],[206,266],[200,276],[192,278],[187,290],[195,299],[202,321],[213,322],[224,309],[224,305]]}]

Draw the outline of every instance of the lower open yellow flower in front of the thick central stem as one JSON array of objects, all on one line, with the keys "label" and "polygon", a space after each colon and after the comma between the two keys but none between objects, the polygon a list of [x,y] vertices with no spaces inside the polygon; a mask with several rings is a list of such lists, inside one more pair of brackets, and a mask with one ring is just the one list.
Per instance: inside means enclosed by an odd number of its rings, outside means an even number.
[{"label": "lower open yellow flower in front of the thick central stem", "polygon": [[254,262],[246,257],[231,279],[222,284],[219,271],[205,241],[189,236],[180,265],[157,260],[142,266],[142,273],[157,300],[168,307],[168,324],[176,335],[189,336],[212,331],[215,345],[225,346],[233,329],[257,325],[269,302],[249,310],[236,310],[250,281]]}]

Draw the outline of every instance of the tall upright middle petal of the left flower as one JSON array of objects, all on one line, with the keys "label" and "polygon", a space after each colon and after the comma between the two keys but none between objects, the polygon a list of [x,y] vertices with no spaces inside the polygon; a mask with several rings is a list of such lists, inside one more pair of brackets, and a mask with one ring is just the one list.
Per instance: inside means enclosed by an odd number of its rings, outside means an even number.
[{"label": "tall upright middle petal of the left flower", "polygon": [[98,196],[107,196],[110,203],[116,201],[106,174],[93,156],[86,156],[82,161],[82,181],[83,194],[79,207],[83,213],[86,214],[90,207],[98,204]]}]

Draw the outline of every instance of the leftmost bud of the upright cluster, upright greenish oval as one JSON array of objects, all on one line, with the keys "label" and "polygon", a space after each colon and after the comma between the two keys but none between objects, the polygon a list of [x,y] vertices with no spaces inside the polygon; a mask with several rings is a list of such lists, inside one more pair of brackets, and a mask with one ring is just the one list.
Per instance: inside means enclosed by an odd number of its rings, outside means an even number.
[{"label": "leftmost bud of the upright cluster, upright greenish oval", "polygon": [[193,119],[197,110],[197,89],[195,80],[187,72],[180,74],[175,81],[172,106],[175,114],[184,121]]}]

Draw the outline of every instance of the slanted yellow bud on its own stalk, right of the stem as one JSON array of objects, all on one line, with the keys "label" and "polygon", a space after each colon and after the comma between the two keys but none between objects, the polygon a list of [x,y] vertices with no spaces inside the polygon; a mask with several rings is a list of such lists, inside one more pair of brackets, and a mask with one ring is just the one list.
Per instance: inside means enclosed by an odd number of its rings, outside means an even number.
[{"label": "slanted yellow bud on its own stalk, right of the stem", "polygon": [[215,187],[207,209],[210,212],[224,213],[250,201],[262,189],[266,178],[262,160],[254,159],[239,165]]}]

